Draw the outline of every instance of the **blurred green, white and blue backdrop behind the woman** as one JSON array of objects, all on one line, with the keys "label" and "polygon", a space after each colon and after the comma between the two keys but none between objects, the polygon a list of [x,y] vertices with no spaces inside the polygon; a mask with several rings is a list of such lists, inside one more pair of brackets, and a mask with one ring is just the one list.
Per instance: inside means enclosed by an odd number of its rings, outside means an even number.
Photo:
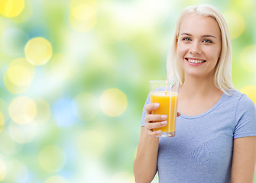
[{"label": "blurred green, white and blue backdrop behind the woman", "polygon": [[[72,2],[96,3],[96,24],[91,30],[73,27]],[[132,166],[148,82],[165,79],[177,16],[186,6],[198,4],[215,5],[227,18],[232,35],[238,34],[232,37],[233,82],[238,90],[251,86],[254,100],[255,57],[243,60],[241,56],[246,47],[256,45],[254,0],[27,0],[18,17],[0,15],[0,110],[5,117],[0,160],[6,172],[2,182],[48,183],[53,176],[59,176],[56,183],[134,182]],[[242,24],[232,19],[234,12]],[[53,56],[47,64],[36,66],[27,91],[13,94],[5,88],[5,72],[11,61],[24,57],[24,47],[34,37],[48,40]],[[60,56],[58,64],[67,64],[68,69],[52,72],[51,66],[57,64],[54,56]],[[53,82],[57,76],[63,80]],[[101,96],[110,88],[118,88],[128,99],[126,110],[115,117],[101,108]],[[77,96],[85,93],[92,97],[77,103]],[[21,96],[41,98],[50,108],[50,117],[35,127],[35,136],[27,143],[18,143],[10,133],[13,121],[8,107]],[[76,114],[77,104],[83,105],[84,117]],[[47,115],[44,110],[41,114]],[[23,128],[18,125],[24,133]],[[49,166],[45,168],[41,161]],[[0,178],[1,169],[0,162]]]}]

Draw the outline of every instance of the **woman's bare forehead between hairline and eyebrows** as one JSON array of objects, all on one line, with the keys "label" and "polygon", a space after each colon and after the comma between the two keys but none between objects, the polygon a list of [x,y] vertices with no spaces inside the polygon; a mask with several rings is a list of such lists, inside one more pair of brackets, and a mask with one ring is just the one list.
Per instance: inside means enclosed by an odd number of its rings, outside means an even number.
[{"label": "woman's bare forehead between hairline and eyebrows", "polygon": [[212,34],[215,37],[221,36],[219,24],[215,21],[215,18],[197,14],[187,14],[183,18],[180,24],[180,34],[183,32],[189,34]]}]

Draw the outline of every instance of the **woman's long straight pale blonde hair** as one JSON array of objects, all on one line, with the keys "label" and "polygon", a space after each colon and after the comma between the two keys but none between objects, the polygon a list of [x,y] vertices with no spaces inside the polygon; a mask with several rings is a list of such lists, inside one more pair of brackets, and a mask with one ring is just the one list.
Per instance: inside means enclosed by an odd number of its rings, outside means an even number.
[{"label": "woman's long straight pale blonde hair", "polygon": [[173,44],[167,56],[167,70],[170,69],[170,74],[172,74],[171,77],[173,77],[173,79],[176,79],[183,84],[184,71],[180,67],[177,58],[177,40],[180,32],[180,24],[182,23],[183,18],[188,14],[212,17],[219,24],[222,34],[222,50],[221,55],[219,56],[219,62],[217,62],[217,65],[215,66],[213,83],[220,91],[227,94],[228,91],[234,89],[232,83],[232,45],[225,19],[212,5],[188,6],[180,12],[173,37]]}]

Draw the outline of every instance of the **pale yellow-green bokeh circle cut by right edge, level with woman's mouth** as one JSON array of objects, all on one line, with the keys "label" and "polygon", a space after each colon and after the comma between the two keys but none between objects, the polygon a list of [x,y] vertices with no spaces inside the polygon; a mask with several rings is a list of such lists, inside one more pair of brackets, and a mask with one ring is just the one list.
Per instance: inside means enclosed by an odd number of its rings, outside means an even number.
[{"label": "pale yellow-green bokeh circle cut by right edge, level with woman's mouth", "polygon": [[256,45],[245,47],[240,54],[241,66],[248,72],[256,72]]}]

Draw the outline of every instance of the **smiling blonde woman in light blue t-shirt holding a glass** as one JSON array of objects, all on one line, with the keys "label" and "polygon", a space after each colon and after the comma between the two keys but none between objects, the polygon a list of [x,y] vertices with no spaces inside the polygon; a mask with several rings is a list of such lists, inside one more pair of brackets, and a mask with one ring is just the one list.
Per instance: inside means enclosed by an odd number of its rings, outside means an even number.
[{"label": "smiling blonde woman in light blue t-shirt holding a glass", "polygon": [[157,138],[166,116],[144,105],[134,160],[136,182],[253,182],[254,103],[232,85],[232,48],[222,14],[211,5],[185,8],[177,21],[167,69],[180,81],[176,135]]}]

